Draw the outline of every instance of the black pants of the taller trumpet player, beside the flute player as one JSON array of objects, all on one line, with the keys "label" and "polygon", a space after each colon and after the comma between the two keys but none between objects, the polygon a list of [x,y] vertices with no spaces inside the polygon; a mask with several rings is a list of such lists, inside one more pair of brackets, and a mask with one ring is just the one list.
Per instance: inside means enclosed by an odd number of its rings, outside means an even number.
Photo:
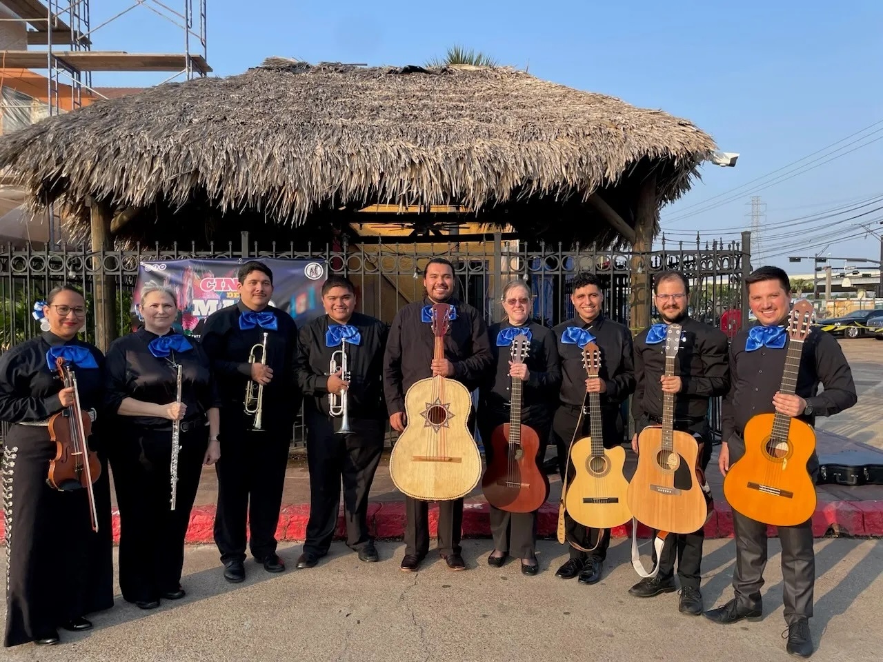
[{"label": "black pants of the taller trumpet player, beside the flute player", "polygon": [[[249,424],[250,425],[250,424]],[[215,545],[221,562],[245,560],[247,516],[252,556],[263,561],[275,554],[291,427],[253,432],[238,412],[221,410],[221,459],[215,463],[218,508]]]}]

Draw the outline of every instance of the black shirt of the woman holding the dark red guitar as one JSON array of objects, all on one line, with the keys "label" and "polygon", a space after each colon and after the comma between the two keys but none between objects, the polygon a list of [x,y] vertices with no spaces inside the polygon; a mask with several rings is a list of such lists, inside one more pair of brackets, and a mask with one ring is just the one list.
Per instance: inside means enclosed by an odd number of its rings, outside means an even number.
[{"label": "black shirt of the woman holding the dark red guitar", "polygon": [[[509,361],[512,360],[511,345],[498,346],[497,335],[501,329],[512,327],[509,321],[497,322],[487,329],[490,341],[493,370],[487,371],[487,380],[481,387],[481,406],[496,413],[509,413]],[[552,330],[536,322],[524,325],[531,331],[531,345],[525,364],[530,372],[521,389],[521,418],[523,421],[548,421],[558,402],[561,387],[561,366],[558,348]]]}]

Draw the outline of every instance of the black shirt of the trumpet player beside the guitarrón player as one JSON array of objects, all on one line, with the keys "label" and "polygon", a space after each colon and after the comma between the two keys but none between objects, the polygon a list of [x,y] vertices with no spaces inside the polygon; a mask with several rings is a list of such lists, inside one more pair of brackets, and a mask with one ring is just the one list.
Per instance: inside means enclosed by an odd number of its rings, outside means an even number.
[{"label": "black shirt of the trumpet player beside the guitarr\u00f3n player", "polygon": [[[310,321],[300,329],[298,338],[298,385],[306,396],[306,411],[321,411],[328,416],[328,368],[331,355],[340,350],[340,344],[328,347],[325,332],[329,324],[336,324],[328,315]],[[383,350],[386,347],[387,325],[373,317],[353,312],[347,322],[358,328],[358,345],[346,343],[347,370],[350,387],[347,389],[349,418],[386,419],[383,404]],[[340,361],[337,361],[338,366]]]}]

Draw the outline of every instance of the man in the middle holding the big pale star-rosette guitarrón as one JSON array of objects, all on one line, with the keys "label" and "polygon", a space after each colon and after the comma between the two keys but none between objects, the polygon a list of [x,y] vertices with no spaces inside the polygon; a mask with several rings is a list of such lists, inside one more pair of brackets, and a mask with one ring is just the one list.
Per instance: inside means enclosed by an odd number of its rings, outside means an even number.
[{"label": "man in the middle holding the big pale star-rosette guitarr\u00f3n", "polygon": [[479,312],[454,297],[448,260],[429,260],[423,285],[426,297],[396,312],[383,357],[389,425],[400,433],[389,475],[405,495],[402,570],[416,572],[429,553],[430,500],[439,501],[439,554],[464,570],[463,497],[481,478],[470,392],[490,368],[490,343]]}]

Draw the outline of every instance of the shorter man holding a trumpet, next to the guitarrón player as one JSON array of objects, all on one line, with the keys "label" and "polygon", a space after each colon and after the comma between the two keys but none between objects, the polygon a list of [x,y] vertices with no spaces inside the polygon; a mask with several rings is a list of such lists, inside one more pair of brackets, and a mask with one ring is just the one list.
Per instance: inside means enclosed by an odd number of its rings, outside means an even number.
[{"label": "shorter man holding a trumpet, next to the guitarr\u00f3n player", "polygon": [[310,470],[310,518],[298,568],[313,568],[328,553],[342,479],[346,545],[358,552],[359,560],[378,560],[367,511],[383,450],[387,326],[354,312],[355,288],[343,276],[332,275],[322,286],[322,306],[326,314],[306,324],[298,342]]}]

